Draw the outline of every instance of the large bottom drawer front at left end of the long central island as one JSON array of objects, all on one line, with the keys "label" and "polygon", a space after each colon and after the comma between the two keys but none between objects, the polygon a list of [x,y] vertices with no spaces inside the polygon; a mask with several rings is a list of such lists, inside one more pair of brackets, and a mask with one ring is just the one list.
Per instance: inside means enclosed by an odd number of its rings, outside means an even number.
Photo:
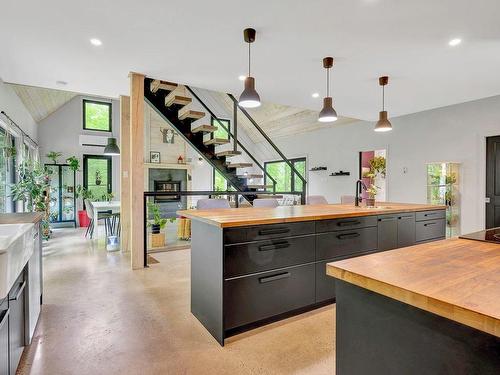
[{"label": "large bottom drawer front at left end of the long central island", "polygon": [[314,303],[314,264],[224,281],[228,330]]}]

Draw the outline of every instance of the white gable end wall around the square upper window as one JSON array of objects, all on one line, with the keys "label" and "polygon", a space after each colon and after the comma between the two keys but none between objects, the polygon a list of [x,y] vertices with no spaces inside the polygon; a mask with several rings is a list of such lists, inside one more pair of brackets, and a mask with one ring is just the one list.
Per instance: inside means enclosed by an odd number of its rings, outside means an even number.
[{"label": "white gable end wall around the square upper window", "polygon": [[[83,130],[83,99],[97,99],[112,103],[112,133]],[[117,138],[120,143],[120,102],[105,98],[76,96],[68,103],[52,113],[38,124],[38,143],[40,145],[40,157],[43,162],[48,159],[45,155],[50,151],[62,152],[59,162],[62,163],[70,156],[76,156],[80,160],[80,172],[77,172],[77,184],[83,184],[83,155],[102,155],[104,148],[80,146],[79,136],[81,134],[107,136]],[[112,134],[112,135],[111,135]],[[115,197],[120,195],[120,158],[112,159],[112,192]]]}]

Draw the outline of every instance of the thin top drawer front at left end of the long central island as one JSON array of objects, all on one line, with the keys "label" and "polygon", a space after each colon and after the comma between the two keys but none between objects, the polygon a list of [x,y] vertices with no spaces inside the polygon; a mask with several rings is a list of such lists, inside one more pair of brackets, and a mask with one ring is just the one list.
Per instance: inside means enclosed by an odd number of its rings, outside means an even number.
[{"label": "thin top drawer front at left end of the long central island", "polygon": [[314,221],[224,229],[224,244],[268,240],[314,233]]}]

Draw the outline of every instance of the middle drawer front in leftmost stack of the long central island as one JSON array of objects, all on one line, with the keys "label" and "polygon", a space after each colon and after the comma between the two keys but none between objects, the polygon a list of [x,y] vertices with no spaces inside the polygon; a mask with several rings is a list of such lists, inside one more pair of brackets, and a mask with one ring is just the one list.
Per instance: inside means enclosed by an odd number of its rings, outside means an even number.
[{"label": "middle drawer front in leftmost stack of the long central island", "polygon": [[224,247],[224,276],[314,262],[315,236],[281,238]]}]

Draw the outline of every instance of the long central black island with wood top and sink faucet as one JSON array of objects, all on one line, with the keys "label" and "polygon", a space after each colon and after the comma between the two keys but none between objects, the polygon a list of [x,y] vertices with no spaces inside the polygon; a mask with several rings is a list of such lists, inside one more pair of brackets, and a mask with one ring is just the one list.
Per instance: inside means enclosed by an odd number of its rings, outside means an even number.
[{"label": "long central black island with wood top and sink faucet", "polygon": [[191,312],[224,339],[335,300],[326,264],[443,239],[445,207],[383,203],[187,210]]}]

